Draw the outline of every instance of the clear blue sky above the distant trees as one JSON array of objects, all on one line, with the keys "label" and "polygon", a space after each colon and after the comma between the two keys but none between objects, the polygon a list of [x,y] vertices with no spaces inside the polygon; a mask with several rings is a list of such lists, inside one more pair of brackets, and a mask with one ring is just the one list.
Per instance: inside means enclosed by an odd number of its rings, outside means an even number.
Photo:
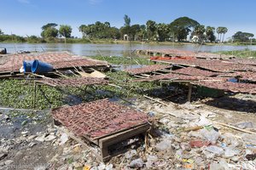
[{"label": "clear blue sky above the distant trees", "polygon": [[41,26],[49,22],[73,27],[73,36],[81,37],[78,27],[98,21],[111,26],[124,25],[124,15],[132,24],[147,20],[171,23],[188,16],[205,26],[226,26],[231,37],[236,31],[256,37],[255,0],[0,0],[0,29],[4,33],[39,36]]}]

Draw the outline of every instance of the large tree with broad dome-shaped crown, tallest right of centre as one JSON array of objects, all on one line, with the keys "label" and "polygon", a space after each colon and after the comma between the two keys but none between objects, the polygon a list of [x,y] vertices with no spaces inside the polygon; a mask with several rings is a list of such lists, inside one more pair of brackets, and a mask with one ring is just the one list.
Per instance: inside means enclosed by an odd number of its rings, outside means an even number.
[{"label": "large tree with broad dome-shaped crown, tallest right of centre", "polygon": [[177,37],[177,41],[180,42],[181,40],[187,39],[191,28],[195,28],[195,26],[199,25],[196,20],[192,20],[189,17],[180,17],[173,20],[169,26],[174,36]]}]

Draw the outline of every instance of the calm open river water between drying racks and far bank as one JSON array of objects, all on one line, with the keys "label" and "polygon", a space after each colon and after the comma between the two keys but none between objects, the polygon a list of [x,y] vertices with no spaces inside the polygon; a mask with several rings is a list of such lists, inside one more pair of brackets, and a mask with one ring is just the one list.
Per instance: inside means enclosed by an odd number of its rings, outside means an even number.
[{"label": "calm open river water between drying racks and far bank", "polygon": [[180,49],[189,51],[201,52],[217,52],[217,51],[233,51],[243,50],[249,48],[256,50],[256,46],[232,46],[232,45],[152,45],[144,43],[130,43],[127,44],[94,44],[94,43],[0,43],[0,48],[7,48],[8,53],[15,53],[19,50],[28,51],[70,51],[73,54],[84,56],[105,55],[105,56],[129,56],[133,50],[136,49]]}]

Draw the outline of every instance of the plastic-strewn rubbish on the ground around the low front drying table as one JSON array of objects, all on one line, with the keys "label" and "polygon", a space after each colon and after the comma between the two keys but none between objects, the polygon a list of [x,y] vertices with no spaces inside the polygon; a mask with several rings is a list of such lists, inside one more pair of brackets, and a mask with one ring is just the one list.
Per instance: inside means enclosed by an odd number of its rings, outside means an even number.
[{"label": "plastic-strewn rubbish on the ground around the low front drying table", "polygon": [[[144,144],[132,144],[130,150],[105,163],[91,154],[93,147],[85,149],[58,132],[54,145],[64,147],[61,159],[66,162],[59,169],[255,169],[256,116],[206,102],[162,105],[137,100],[137,110],[151,116],[154,128]],[[67,163],[71,156],[73,162]],[[62,162],[58,157],[56,160]]]}]

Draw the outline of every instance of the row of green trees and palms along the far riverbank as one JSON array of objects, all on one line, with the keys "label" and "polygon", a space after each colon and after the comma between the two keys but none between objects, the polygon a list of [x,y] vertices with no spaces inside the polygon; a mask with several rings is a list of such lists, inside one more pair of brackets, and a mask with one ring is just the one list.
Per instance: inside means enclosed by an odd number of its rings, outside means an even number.
[{"label": "row of green trees and palms along the far riverbank", "polygon": [[[54,40],[57,37],[67,38],[72,37],[72,27],[68,25],[60,25],[57,29],[57,24],[48,23],[41,27],[41,37],[19,37],[12,35],[12,38],[19,41],[37,41]],[[129,41],[172,41],[172,42],[187,42],[188,39],[192,42],[224,42],[224,35],[228,31],[227,27],[201,25],[198,21],[189,17],[179,17],[171,23],[156,23],[154,20],[148,20],[144,25],[131,25],[131,18],[125,14],[124,26],[117,28],[111,26],[108,21],[96,21],[94,24],[81,25],[79,31],[84,39],[113,39],[113,40],[129,40]],[[217,37],[215,36],[217,33]],[[252,33],[237,31],[232,36],[233,42],[247,42],[252,40]],[[0,41],[4,38],[9,38],[0,30]],[[255,41],[255,39],[253,39]]]}]

